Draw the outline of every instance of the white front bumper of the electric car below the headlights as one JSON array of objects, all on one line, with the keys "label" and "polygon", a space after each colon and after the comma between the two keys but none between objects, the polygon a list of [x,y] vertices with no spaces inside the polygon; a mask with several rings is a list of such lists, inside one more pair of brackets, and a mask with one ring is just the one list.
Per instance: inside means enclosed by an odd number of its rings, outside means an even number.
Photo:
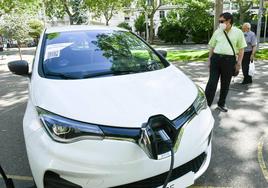
[{"label": "white front bumper of the electric car below the headlights", "polygon": [[[200,167],[195,170],[194,180],[205,172],[211,157],[209,136],[213,125],[214,119],[208,108],[184,125],[180,146],[175,153],[174,169],[194,161],[191,166],[198,161]],[[44,182],[48,185],[50,181],[71,182],[70,188],[131,187],[131,184],[132,187],[139,184],[148,188],[143,181],[153,182],[160,175],[164,178],[164,173],[169,170],[170,157],[152,160],[138,144],[129,141],[55,142],[48,136],[31,102],[28,102],[23,126],[28,159],[38,188],[48,187],[44,186]],[[192,171],[189,165],[185,168],[183,172],[178,170],[175,179],[184,172]],[[163,183],[152,183],[149,187]]]}]

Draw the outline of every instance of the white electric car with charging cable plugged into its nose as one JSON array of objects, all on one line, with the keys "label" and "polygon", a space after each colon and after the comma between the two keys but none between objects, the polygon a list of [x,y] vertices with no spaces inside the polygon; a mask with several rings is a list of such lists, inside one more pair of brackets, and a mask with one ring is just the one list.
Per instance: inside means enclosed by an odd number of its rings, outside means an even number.
[{"label": "white electric car with charging cable plugged into its nose", "polygon": [[9,63],[30,78],[23,130],[38,188],[177,188],[205,172],[214,119],[164,56],[124,29],[68,26],[44,31],[31,73]]}]

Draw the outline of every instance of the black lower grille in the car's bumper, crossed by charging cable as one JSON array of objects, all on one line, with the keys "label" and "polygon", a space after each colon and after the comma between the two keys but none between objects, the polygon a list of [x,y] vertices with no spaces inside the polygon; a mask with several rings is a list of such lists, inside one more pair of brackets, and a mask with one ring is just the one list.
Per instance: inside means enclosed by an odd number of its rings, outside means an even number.
[{"label": "black lower grille in the car's bumper, crossed by charging cable", "polygon": [[[173,181],[191,171],[196,173],[202,166],[204,160],[206,159],[206,156],[206,153],[203,152],[201,155],[189,161],[188,163],[185,163],[184,165],[173,169],[170,181]],[[164,184],[167,174],[168,172],[114,188],[155,188]]]}]

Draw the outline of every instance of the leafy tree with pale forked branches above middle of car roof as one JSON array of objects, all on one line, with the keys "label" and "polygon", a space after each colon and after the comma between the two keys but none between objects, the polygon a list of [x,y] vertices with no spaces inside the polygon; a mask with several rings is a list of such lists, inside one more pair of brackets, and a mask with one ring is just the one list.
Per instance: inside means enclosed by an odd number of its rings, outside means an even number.
[{"label": "leafy tree with pale forked branches above middle of car roof", "polygon": [[123,7],[129,6],[130,0],[86,0],[88,9],[95,13],[95,17],[104,16],[105,24],[109,25],[109,21]]}]

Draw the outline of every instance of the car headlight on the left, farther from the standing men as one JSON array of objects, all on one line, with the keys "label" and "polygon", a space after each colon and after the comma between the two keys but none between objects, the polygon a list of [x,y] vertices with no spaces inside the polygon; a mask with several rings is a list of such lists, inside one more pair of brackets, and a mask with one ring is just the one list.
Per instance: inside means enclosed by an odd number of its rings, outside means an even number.
[{"label": "car headlight on the left, farther from the standing men", "polygon": [[39,118],[53,140],[74,142],[83,139],[104,139],[104,133],[97,125],[71,120],[37,108]]}]

